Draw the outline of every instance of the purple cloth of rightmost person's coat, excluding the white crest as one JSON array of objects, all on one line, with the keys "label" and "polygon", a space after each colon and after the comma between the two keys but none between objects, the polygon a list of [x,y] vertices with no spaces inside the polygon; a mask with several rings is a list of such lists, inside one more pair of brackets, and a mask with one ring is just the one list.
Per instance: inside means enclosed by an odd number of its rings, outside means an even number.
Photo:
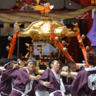
[{"label": "purple cloth of rightmost person's coat, excluding the white crest", "polygon": [[70,91],[72,96],[96,96],[96,89],[92,91],[88,87],[88,76],[91,74],[96,74],[96,71],[82,70],[78,73],[71,84]]}]

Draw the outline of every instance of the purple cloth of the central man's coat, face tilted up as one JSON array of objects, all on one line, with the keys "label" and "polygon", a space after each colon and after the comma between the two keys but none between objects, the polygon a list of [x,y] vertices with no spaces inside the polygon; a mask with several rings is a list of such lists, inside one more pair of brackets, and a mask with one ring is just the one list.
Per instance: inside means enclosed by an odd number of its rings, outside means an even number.
[{"label": "purple cloth of the central man's coat, face tilted up", "polygon": [[[51,83],[49,87],[44,86],[45,91],[49,91],[49,93],[51,93],[53,91],[60,90],[60,84],[58,83],[57,79],[50,69],[46,69],[44,71],[41,79],[39,80],[39,83],[41,83],[42,81],[48,81]],[[62,96],[62,94],[57,92],[54,94],[54,96]]]}]

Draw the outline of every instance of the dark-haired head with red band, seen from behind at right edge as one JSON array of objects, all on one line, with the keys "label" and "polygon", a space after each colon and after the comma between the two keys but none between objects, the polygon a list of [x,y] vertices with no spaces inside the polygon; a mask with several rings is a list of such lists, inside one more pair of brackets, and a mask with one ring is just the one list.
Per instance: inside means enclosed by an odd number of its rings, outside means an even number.
[{"label": "dark-haired head with red band, seen from behind at right edge", "polygon": [[96,66],[96,51],[92,50],[87,53],[87,61],[89,65]]}]

